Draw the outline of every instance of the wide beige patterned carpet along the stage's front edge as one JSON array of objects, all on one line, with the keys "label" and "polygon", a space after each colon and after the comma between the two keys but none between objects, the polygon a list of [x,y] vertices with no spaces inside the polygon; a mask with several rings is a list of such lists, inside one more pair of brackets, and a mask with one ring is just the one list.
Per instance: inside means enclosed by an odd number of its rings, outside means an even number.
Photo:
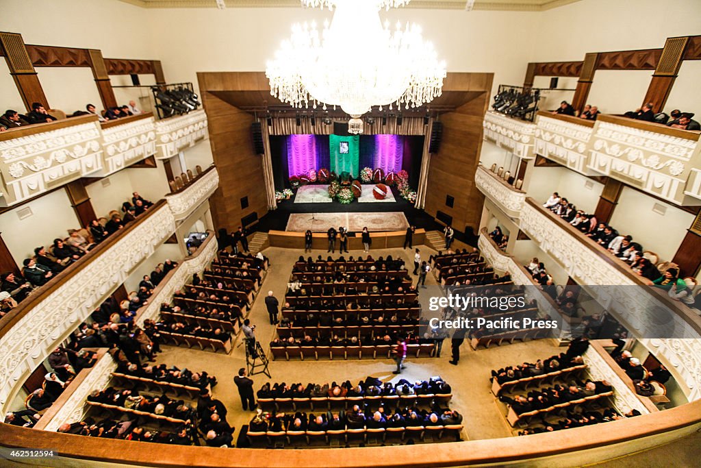
[{"label": "wide beige patterned carpet along the stage's front edge", "polygon": [[401,231],[409,227],[402,212],[388,213],[292,213],[286,231],[327,232],[329,227],[344,227],[348,232],[361,232],[367,227],[373,232]]}]

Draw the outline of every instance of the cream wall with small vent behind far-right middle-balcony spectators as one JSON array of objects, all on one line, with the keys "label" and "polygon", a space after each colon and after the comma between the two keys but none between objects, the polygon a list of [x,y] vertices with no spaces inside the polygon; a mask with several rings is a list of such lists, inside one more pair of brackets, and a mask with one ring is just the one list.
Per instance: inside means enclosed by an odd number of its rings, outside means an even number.
[{"label": "cream wall with small vent behind far-right middle-balcony spectators", "polygon": [[[667,208],[665,215],[653,211],[655,203]],[[691,213],[624,187],[613,210],[611,226],[633,236],[645,250],[658,253],[660,260],[672,260],[693,219]]]}]

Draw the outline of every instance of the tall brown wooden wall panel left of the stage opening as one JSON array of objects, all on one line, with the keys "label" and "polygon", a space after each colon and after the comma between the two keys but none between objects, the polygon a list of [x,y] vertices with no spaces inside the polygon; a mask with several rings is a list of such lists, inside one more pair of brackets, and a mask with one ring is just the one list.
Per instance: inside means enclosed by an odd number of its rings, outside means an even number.
[{"label": "tall brown wooden wall panel left of the stage opening", "polygon": [[[261,218],[268,212],[263,165],[251,140],[253,116],[207,92],[211,81],[202,74],[198,74],[198,79],[212,157],[219,171],[219,188],[210,198],[212,219],[217,229],[226,227],[231,231],[241,225],[241,218],[254,212]],[[242,210],[244,196],[248,197],[248,207]]]}]

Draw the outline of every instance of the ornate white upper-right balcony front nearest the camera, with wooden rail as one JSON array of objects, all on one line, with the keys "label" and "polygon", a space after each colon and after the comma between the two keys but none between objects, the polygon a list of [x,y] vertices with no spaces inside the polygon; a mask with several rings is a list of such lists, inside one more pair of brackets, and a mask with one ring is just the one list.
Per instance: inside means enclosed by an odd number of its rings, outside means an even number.
[{"label": "ornate white upper-right balcony front nearest the camera, with wooden rail", "polygon": [[688,196],[701,167],[700,132],[670,128],[659,123],[602,115],[589,142],[588,166],[680,205],[699,205]]}]

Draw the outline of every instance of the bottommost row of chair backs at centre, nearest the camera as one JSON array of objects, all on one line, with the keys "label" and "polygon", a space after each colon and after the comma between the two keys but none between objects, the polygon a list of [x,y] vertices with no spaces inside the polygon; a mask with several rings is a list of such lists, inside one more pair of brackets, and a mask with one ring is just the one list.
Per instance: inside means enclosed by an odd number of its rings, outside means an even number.
[{"label": "bottommost row of chair backs at centre, nearest the camera", "polygon": [[255,448],[343,446],[354,443],[393,445],[409,439],[422,442],[459,441],[462,430],[462,424],[451,424],[426,427],[388,427],[386,429],[248,432],[246,437],[251,446]]}]

